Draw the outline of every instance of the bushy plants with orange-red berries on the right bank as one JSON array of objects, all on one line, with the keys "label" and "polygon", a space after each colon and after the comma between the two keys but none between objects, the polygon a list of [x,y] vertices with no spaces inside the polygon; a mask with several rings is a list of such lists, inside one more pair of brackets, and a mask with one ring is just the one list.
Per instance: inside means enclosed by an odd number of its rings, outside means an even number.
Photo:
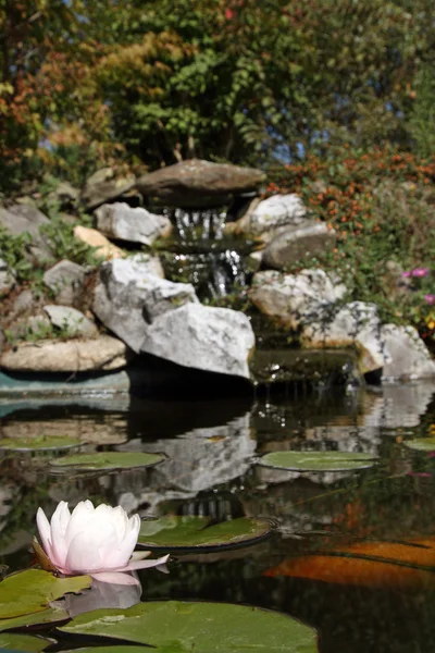
[{"label": "bushy plants with orange-red berries on the right bank", "polygon": [[[328,159],[271,169],[269,189],[296,190],[312,214],[334,227],[337,247],[320,266],[349,288],[346,300],[374,301],[384,322],[413,323],[432,340],[435,292],[434,164],[385,148],[371,153],[333,149]],[[422,276],[412,271],[423,270]],[[409,276],[402,276],[409,273]]]}]

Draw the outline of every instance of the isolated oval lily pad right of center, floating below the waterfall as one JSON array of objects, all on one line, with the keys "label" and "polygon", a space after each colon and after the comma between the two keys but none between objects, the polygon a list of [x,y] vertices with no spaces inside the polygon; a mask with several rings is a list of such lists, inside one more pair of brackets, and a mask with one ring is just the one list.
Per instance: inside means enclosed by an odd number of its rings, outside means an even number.
[{"label": "isolated oval lily pad right of center, floating below the waterfall", "polygon": [[288,471],[350,471],[372,467],[376,459],[351,452],[272,452],[259,460],[263,467]]}]

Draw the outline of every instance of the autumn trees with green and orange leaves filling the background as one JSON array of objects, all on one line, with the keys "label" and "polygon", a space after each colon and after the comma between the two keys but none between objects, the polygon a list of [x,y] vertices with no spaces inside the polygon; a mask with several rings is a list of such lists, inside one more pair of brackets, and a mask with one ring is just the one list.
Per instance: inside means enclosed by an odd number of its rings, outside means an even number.
[{"label": "autumn trees with green and orange leaves filling the background", "polygon": [[38,177],[41,162],[79,185],[104,162],[421,148],[432,11],[430,0],[1,0],[3,186]]}]

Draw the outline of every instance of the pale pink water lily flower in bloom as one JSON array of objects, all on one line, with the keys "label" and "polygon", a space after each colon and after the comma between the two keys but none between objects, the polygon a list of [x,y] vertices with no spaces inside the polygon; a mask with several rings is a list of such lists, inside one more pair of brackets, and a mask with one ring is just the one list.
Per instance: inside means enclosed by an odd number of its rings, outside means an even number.
[{"label": "pale pink water lily flower in bloom", "polygon": [[80,501],[73,513],[61,501],[51,517],[38,508],[36,522],[42,547],[51,565],[65,576],[88,574],[96,580],[119,584],[137,584],[126,571],[158,567],[169,556],[144,560],[150,552],[133,553],[140,529],[140,517],[128,519],[117,506],[101,504],[97,508],[90,501]]}]

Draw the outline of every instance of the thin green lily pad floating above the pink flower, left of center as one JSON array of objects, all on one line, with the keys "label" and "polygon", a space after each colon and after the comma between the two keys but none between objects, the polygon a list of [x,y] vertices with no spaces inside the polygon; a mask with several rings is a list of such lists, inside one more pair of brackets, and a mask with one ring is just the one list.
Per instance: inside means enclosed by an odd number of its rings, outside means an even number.
[{"label": "thin green lily pad floating above the pink flower, left of center", "polygon": [[130,452],[98,452],[95,454],[73,454],[50,460],[55,469],[73,468],[76,471],[98,471],[107,469],[134,469],[151,467],[165,459],[163,454],[144,454]]}]

